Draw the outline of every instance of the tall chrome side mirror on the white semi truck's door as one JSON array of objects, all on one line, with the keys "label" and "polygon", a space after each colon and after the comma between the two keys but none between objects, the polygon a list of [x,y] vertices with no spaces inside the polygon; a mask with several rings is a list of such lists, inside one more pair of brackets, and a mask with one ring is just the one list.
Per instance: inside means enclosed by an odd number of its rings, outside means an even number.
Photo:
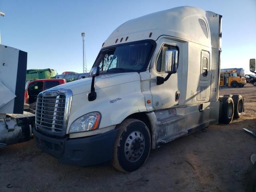
[{"label": "tall chrome side mirror on the white semi truck's door", "polygon": [[178,68],[178,50],[166,50],[165,53],[165,72],[173,74]]}]

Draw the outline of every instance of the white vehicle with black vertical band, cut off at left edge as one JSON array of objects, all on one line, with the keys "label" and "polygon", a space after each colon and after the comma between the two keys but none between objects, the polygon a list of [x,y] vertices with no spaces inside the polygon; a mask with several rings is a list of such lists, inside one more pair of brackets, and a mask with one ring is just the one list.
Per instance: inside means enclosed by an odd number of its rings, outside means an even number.
[{"label": "white vehicle with black vertical band, cut off at left edge", "polygon": [[24,111],[27,53],[0,45],[0,148],[32,138],[35,114]]}]

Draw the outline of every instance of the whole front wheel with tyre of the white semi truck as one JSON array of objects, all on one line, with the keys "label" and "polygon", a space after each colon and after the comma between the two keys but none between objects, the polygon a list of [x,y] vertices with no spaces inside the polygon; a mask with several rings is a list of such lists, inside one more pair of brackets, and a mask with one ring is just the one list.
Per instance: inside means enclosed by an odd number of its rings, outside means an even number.
[{"label": "whole front wheel with tyre of the white semi truck", "polygon": [[148,127],[140,120],[126,119],[117,128],[112,166],[122,172],[135,171],[146,162],[150,152]]}]

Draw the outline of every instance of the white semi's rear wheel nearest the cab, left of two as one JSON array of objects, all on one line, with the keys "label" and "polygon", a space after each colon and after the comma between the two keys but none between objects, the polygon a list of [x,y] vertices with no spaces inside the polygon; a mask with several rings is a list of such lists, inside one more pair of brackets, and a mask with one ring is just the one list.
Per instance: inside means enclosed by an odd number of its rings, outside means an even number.
[{"label": "white semi's rear wheel nearest the cab, left of two", "polygon": [[234,116],[234,102],[231,97],[222,97],[220,99],[221,112],[220,112],[220,122],[229,124]]}]

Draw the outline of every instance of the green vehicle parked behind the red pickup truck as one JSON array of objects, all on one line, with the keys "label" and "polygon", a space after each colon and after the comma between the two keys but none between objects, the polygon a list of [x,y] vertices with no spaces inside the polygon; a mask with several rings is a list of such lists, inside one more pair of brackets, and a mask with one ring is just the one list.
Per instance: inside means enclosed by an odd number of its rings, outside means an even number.
[{"label": "green vehicle parked behind the red pickup truck", "polygon": [[56,76],[53,69],[28,69],[26,74],[26,81],[37,80],[37,79],[49,79]]}]

